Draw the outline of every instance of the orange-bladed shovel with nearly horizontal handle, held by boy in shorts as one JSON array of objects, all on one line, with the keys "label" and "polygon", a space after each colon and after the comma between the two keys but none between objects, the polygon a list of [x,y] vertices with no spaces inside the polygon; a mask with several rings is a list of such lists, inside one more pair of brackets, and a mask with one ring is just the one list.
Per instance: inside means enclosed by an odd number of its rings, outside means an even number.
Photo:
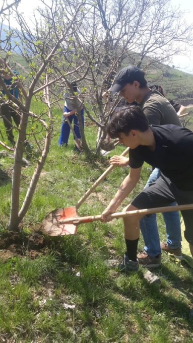
[{"label": "orange-bladed shovel with nearly horizontal handle, held by boy in shorts", "polygon": [[[88,217],[74,217],[75,212],[71,212],[70,209],[75,208],[66,208],[66,209],[58,209],[49,213],[45,219],[43,220],[43,230],[49,236],[63,236],[63,235],[70,235],[75,234],[77,231],[77,225],[83,223],[91,223],[95,221],[101,220],[101,215],[99,216],[88,216]],[[146,209],[146,210],[136,210],[130,212],[117,212],[113,213],[109,217],[111,219],[114,218],[125,218],[128,216],[136,216],[136,215],[150,215],[152,213],[163,213],[163,212],[171,212],[171,211],[184,211],[184,210],[192,210],[193,203],[185,204],[185,205],[175,205],[175,206],[167,206],[167,207],[158,207],[154,209]],[[62,211],[60,211],[62,210]],[[72,217],[70,217],[70,213]]]}]

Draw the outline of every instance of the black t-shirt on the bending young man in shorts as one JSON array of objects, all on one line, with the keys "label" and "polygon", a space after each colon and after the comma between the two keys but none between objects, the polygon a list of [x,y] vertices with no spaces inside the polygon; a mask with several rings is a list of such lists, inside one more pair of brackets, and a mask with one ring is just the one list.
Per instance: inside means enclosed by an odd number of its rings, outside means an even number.
[{"label": "black t-shirt on the bending young man in shorts", "polygon": [[157,167],[179,189],[193,190],[193,132],[176,125],[150,125],[156,148],[140,145],[130,149],[131,168],[144,162]]}]

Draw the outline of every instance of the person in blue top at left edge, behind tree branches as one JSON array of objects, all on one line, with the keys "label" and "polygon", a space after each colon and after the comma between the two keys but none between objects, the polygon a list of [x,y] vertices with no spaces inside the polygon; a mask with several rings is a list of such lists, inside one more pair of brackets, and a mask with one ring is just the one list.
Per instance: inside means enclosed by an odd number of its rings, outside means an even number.
[{"label": "person in blue top at left edge, behind tree branches", "polygon": [[[6,71],[1,72],[3,75],[3,80],[10,91],[12,95],[15,96],[16,99],[19,98],[19,88],[17,86],[17,83],[13,80],[12,75],[7,73]],[[18,73],[16,71],[13,71],[13,73],[17,76]],[[2,94],[5,95],[5,91],[2,90]],[[4,125],[6,127],[6,133],[8,140],[10,141],[11,144],[15,145],[14,141],[14,134],[13,134],[13,125],[12,125],[12,118],[18,127],[20,125],[21,121],[21,116],[20,114],[14,109],[13,105],[9,103],[2,103],[1,104],[1,109],[2,109],[2,114],[3,114],[3,120],[4,120]]]}]

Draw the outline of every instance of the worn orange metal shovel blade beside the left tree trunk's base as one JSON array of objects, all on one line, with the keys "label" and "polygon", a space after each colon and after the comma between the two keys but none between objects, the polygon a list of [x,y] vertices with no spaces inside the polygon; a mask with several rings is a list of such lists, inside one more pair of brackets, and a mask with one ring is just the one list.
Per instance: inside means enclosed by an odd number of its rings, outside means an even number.
[{"label": "worn orange metal shovel blade beside the left tree trunk's base", "polygon": [[50,212],[43,220],[43,230],[49,236],[74,235],[77,231],[76,225],[61,224],[59,221],[77,216],[78,214],[76,207],[56,209]]}]

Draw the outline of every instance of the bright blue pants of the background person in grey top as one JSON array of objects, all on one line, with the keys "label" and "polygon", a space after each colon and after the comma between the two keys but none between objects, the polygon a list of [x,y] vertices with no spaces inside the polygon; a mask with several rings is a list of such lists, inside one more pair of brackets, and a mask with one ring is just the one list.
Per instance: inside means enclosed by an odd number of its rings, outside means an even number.
[{"label": "bright blue pants of the background person in grey top", "polygon": [[[64,110],[64,112],[71,112],[66,106],[64,107],[63,110]],[[83,128],[84,128],[84,108],[81,110],[81,118],[82,118],[82,123],[83,123]],[[79,123],[78,123],[78,117],[76,116],[76,114],[70,115],[68,117],[68,119],[69,119],[71,124],[74,120],[74,127],[73,127],[74,131],[76,133],[77,138],[81,138]],[[58,140],[59,145],[68,144],[70,130],[71,130],[71,128],[70,128],[67,120],[65,120],[65,118],[63,118],[62,124],[61,124],[61,131],[60,131],[60,135],[59,135],[59,140]],[[74,139],[75,139],[75,137],[74,137]]]}]

